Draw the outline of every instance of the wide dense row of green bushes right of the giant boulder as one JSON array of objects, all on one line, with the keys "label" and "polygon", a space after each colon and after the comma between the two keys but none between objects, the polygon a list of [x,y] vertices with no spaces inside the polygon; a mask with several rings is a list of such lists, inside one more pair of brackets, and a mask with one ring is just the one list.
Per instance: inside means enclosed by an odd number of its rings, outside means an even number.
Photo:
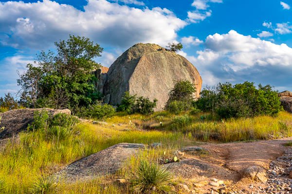
[{"label": "wide dense row of green bushes right of the giant boulder", "polygon": [[277,91],[270,85],[244,82],[232,85],[219,83],[216,87],[204,89],[196,102],[199,109],[217,113],[219,118],[276,115],[282,110]]}]

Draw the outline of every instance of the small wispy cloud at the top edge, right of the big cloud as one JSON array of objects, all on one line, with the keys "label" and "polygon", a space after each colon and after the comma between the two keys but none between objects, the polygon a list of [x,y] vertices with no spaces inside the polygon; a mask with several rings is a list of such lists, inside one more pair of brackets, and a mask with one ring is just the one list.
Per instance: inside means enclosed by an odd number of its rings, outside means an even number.
[{"label": "small wispy cloud at the top edge, right of the big cloud", "polygon": [[194,11],[187,12],[188,21],[192,23],[199,23],[206,19],[207,17],[212,15],[212,10],[209,11],[201,11],[206,10],[210,7],[209,3],[222,3],[222,0],[194,0],[192,6],[196,8]]}]

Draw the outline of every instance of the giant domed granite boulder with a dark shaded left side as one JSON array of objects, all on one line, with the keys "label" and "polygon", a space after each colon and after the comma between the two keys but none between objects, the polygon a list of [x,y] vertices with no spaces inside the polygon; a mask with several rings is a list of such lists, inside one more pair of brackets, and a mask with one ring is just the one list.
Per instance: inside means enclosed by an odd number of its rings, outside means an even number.
[{"label": "giant domed granite boulder with a dark shaded left side", "polygon": [[129,91],[132,95],[158,99],[156,110],[162,110],[169,90],[180,80],[194,83],[197,89],[195,97],[199,97],[202,79],[194,65],[183,56],[158,45],[136,44],[110,66],[104,84],[104,100],[117,105]]}]

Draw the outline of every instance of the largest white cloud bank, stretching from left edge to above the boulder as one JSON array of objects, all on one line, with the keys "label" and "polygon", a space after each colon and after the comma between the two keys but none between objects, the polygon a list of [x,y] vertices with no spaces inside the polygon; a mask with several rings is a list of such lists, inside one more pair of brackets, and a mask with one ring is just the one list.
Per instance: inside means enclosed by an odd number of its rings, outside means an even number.
[{"label": "largest white cloud bank, stretching from left edge to above the boulder", "polygon": [[165,45],[176,39],[176,32],[185,25],[165,8],[137,9],[107,0],[88,0],[84,11],[51,0],[0,2],[0,34],[6,34],[0,41],[16,48],[43,49],[68,34],[120,47],[137,42]]}]

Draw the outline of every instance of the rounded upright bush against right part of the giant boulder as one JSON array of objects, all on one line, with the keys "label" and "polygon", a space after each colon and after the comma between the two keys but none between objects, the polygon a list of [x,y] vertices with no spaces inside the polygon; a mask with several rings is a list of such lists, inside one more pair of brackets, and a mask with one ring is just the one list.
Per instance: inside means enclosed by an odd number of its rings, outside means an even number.
[{"label": "rounded upright bush against right part of the giant boulder", "polygon": [[194,92],[196,92],[196,88],[193,83],[187,80],[178,81],[168,94],[165,110],[176,114],[191,110]]}]

